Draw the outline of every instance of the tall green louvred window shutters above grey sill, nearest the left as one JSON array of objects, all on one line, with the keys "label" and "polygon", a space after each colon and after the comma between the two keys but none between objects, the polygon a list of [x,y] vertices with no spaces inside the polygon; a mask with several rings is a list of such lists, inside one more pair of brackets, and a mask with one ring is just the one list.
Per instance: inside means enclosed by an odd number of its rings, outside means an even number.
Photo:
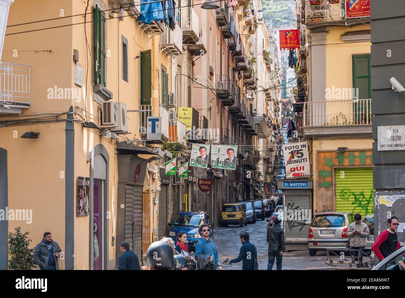
[{"label": "tall green louvred window shutters above grey sill, nearest the left", "polygon": [[100,8],[96,5],[96,11],[94,13],[94,82],[96,84],[106,87],[105,78],[105,13],[100,11]]}]

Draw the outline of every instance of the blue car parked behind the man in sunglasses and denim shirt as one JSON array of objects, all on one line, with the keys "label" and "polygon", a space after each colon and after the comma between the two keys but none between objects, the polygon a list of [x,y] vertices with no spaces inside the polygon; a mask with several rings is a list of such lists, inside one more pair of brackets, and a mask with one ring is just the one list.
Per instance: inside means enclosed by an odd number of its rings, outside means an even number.
[{"label": "blue car parked behind the man in sunglasses and denim shirt", "polygon": [[209,225],[209,237],[211,239],[214,239],[213,229],[207,212],[180,212],[173,224],[169,224],[169,226],[171,227],[169,236],[176,243],[176,235],[181,231],[185,232],[187,234],[188,248],[190,250],[195,250],[198,240],[201,239],[201,235],[198,232],[198,226],[203,223]]}]

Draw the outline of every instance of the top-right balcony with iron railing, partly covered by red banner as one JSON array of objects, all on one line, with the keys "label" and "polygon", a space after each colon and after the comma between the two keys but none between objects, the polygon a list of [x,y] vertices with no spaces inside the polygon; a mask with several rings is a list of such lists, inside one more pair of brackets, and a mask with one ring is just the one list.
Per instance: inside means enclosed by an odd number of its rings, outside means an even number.
[{"label": "top-right balcony with iron railing, partly covered by red banner", "polygon": [[322,0],[312,5],[305,2],[305,24],[308,29],[325,26],[353,26],[370,23],[369,17],[346,18],[345,0]]}]

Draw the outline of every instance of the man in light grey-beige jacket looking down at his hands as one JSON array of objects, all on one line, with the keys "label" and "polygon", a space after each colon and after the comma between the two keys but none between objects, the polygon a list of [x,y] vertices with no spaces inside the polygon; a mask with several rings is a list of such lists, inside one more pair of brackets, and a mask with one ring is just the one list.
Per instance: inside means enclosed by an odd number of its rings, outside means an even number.
[{"label": "man in light grey-beige jacket looking down at his hands", "polygon": [[358,260],[357,267],[361,267],[360,263],[363,262],[363,252],[366,246],[367,237],[370,236],[370,230],[367,224],[361,221],[361,215],[359,213],[354,215],[354,222],[347,227],[346,235],[350,237],[350,249],[354,260]]}]

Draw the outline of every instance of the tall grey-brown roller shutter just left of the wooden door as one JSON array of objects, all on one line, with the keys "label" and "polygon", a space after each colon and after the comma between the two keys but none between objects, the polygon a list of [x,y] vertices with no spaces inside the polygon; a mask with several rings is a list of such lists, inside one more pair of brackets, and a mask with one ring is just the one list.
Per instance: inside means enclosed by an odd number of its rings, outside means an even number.
[{"label": "tall grey-brown roller shutter just left of the wooden door", "polygon": [[125,241],[141,260],[142,186],[125,185]]}]

